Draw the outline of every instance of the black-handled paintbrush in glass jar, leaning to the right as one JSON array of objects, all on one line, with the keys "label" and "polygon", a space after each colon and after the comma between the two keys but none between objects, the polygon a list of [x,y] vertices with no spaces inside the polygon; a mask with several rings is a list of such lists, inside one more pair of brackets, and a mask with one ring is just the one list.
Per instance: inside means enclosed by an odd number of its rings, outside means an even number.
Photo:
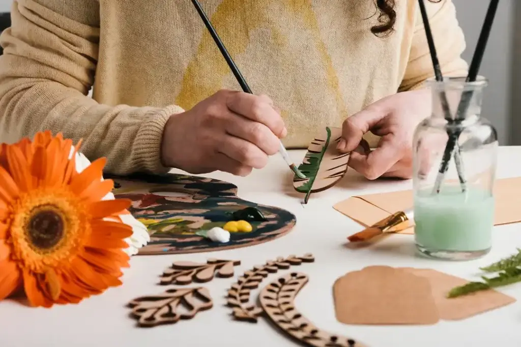
[{"label": "black-handled paintbrush in glass jar, leaning to the right", "polygon": [[[494,22],[495,12],[498,9],[498,5],[499,0],[490,1],[489,7],[487,9],[487,14],[485,15],[485,21],[483,22],[483,27],[479,34],[478,43],[476,45],[472,61],[470,61],[470,66],[468,69],[468,75],[466,79],[467,82],[475,82],[477,79],[479,67],[481,65],[483,55],[485,54],[485,48],[487,47],[489,34],[492,29],[492,23]],[[473,95],[473,90],[463,92],[460,104],[458,104],[456,111],[456,121],[461,122],[465,118],[465,113],[467,112],[470,100],[472,100]],[[457,131],[452,134],[449,134],[449,140],[445,146],[445,150],[443,151],[440,169],[438,171],[438,176],[436,177],[436,182],[434,186],[435,192],[439,192],[441,189],[441,183],[443,182],[445,173],[449,169],[449,161],[452,157],[454,148],[457,147],[457,141],[460,137],[460,133],[461,131]]]}]

